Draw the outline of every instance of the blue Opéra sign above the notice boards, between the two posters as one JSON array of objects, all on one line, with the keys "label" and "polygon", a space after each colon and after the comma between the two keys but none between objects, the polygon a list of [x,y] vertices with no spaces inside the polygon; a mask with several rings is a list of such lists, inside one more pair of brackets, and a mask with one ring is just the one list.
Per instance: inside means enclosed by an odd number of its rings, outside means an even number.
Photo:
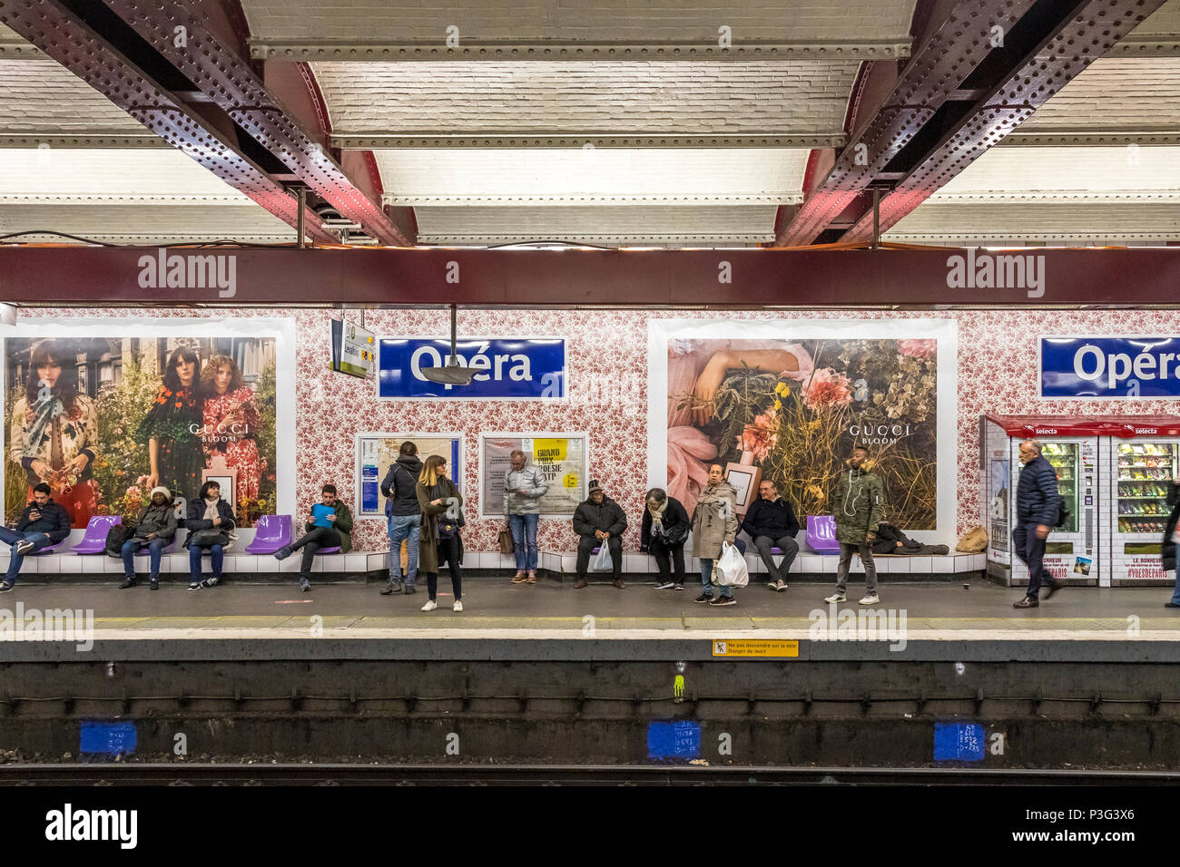
[{"label": "blue Op\u00e9ra sign above the notice boards, between the two posters", "polygon": [[421,372],[451,357],[445,339],[381,337],[378,346],[378,398],[459,398],[563,400],[564,337],[479,337],[455,344],[458,362],[477,373],[470,386],[431,382]]}]

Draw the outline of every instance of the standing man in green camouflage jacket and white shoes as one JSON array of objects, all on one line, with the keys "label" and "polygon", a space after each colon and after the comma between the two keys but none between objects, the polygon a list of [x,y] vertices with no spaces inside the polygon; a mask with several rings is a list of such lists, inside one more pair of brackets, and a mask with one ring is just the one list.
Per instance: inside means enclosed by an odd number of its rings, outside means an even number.
[{"label": "standing man in green camouflage jacket and white shoes", "polygon": [[832,508],[835,512],[835,539],[840,543],[840,564],[835,570],[835,592],[824,602],[846,602],[853,552],[859,553],[865,564],[865,596],[860,604],[876,605],[880,602],[872,545],[877,541],[878,525],[885,520],[885,486],[865,466],[867,460],[867,449],[853,448],[847,460],[848,469],[840,474],[840,482],[835,486]]}]

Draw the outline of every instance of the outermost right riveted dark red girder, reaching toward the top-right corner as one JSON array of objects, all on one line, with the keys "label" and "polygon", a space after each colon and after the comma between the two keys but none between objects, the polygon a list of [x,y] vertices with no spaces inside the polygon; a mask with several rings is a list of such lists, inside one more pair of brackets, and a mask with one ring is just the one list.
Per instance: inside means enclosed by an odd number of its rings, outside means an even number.
[{"label": "outermost right riveted dark red girder, reaching toward the top-right corner", "polygon": [[[879,231],[896,225],[919,204],[985,151],[1028,120],[1054,93],[1102,57],[1120,39],[1161,6],[1163,0],[1089,0],[1053,34],[1027,63],[982,98],[962,124],[880,201]],[[872,211],[840,238],[863,242],[873,237]]]}]

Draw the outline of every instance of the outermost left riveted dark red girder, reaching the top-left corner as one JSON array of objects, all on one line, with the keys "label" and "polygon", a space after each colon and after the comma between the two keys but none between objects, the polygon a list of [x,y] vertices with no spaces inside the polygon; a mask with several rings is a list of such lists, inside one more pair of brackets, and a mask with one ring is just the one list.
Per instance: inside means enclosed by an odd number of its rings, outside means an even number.
[{"label": "outermost left riveted dark red girder, reaching the top-left corner", "polygon": [[[288,225],[299,224],[299,204],[281,184],[64,5],[57,0],[0,0],[0,22],[230,186]],[[310,209],[304,216],[304,230],[313,241],[339,243]]]}]

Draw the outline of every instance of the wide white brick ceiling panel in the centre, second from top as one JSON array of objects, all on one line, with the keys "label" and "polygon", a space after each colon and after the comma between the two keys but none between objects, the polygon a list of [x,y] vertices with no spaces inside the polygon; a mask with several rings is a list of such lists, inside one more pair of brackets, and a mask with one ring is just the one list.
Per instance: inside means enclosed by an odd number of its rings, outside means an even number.
[{"label": "wide white brick ceiling panel in the centre, second from top", "polygon": [[840,134],[858,64],[314,64],[337,134]]}]

